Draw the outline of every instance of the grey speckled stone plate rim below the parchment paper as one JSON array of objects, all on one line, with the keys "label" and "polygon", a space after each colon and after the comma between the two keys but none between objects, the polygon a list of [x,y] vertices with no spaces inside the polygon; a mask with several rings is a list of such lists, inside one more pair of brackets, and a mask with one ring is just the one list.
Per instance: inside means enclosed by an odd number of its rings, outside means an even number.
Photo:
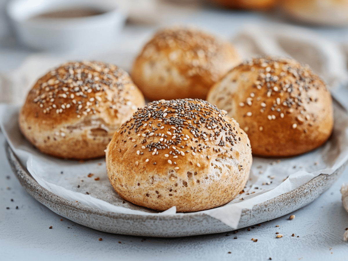
[{"label": "grey speckled stone plate rim below the parchment paper", "polygon": [[[41,187],[6,144],[9,163],[24,189],[53,212],[83,226],[115,234],[182,237],[231,231],[223,222],[204,213],[185,215],[134,215],[103,211],[66,200]],[[321,174],[297,189],[244,209],[238,224],[243,228],[286,215],[314,201],[331,187],[347,161],[331,175]]]}]

